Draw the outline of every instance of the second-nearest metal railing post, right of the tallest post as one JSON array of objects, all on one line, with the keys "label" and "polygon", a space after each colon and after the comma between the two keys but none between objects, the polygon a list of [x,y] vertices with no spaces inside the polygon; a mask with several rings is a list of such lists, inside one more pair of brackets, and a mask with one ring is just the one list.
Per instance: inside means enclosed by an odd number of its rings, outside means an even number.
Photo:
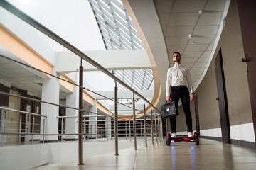
[{"label": "second-nearest metal railing post, right of the tallest post", "polygon": [[118,154],[118,112],[117,112],[117,81],[114,81],[114,145],[115,155]]}]

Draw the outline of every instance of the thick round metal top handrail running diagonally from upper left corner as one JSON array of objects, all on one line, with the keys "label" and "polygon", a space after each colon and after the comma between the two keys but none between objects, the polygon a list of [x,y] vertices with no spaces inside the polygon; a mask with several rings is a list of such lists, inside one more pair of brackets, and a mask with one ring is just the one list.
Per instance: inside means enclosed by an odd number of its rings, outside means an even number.
[{"label": "thick round metal top handrail running diagonally from upper left corner", "polygon": [[102,65],[98,64],[97,62],[95,62],[95,60],[92,60],[90,57],[85,55],[85,53],[83,53],[82,51],[78,50],[78,48],[74,47],[69,42],[67,42],[66,40],[64,40],[63,38],[58,36],[57,34],[53,33],[53,31],[49,30],[48,28],[43,26],[41,23],[38,23],[38,21],[36,21],[33,18],[31,18],[30,16],[26,15],[26,13],[23,13],[18,8],[16,8],[15,6],[12,6],[7,1],[0,1],[0,6],[5,8],[7,11],[13,13],[18,18],[21,18],[23,21],[25,21],[29,25],[33,26],[33,28],[36,28],[37,30],[41,31],[42,33],[47,35],[49,38],[52,38],[53,40],[58,42],[60,45],[63,45],[63,47],[66,47],[68,50],[73,52],[75,55],[78,55],[79,57],[81,57],[86,62],[92,64],[94,67],[99,69],[101,72],[104,72],[105,74],[107,74],[107,76],[109,76],[110,78],[114,79],[119,84],[122,84],[122,86],[126,87],[127,89],[132,91],[134,94],[136,94],[137,96],[142,98],[144,101],[146,101],[146,103],[148,103],[150,106],[152,106],[156,111],[158,111],[160,113],[160,111],[152,103],[150,103],[146,98],[144,98],[144,96],[142,96],[137,91],[132,89],[132,87],[130,87],[127,84],[125,84],[121,79],[119,79],[116,76],[114,76],[114,74],[112,74],[107,69],[102,67]]}]

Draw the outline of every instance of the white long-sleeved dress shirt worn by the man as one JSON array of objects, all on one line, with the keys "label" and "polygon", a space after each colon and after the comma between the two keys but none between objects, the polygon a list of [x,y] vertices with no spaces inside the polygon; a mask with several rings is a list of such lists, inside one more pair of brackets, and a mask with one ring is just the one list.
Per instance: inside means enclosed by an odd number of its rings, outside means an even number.
[{"label": "white long-sleeved dress shirt worn by the man", "polygon": [[166,79],[166,96],[170,95],[171,86],[186,86],[188,83],[188,89],[193,93],[192,79],[189,69],[180,65],[174,65],[167,71]]}]

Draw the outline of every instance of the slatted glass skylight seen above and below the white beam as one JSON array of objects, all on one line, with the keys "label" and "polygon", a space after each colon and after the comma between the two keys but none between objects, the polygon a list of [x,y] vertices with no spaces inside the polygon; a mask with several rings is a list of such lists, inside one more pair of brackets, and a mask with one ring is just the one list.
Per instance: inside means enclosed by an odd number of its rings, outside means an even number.
[{"label": "slatted glass skylight seen above and below the white beam", "polygon": [[[107,50],[144,49],[134,23],[121,0],[89,0]],[[151,69],[113,70],[135,90],[147,90],[154,79]],[[118,90],[127,90],[117,84]]]}]

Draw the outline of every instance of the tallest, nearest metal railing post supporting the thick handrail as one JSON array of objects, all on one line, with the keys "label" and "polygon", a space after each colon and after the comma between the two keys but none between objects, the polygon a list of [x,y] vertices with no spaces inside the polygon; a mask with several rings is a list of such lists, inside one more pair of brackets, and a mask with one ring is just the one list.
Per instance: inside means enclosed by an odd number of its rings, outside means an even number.
[{"label": "tallest, nearest metal railing post supporting the thick handrail", "polygon": [[78,118],[78,165],[83,165],[83,146],[82,146],[82,91],[83,91],[83,67],[82,67],[82,58],[81,65],[79,67],[79,118]]}]

